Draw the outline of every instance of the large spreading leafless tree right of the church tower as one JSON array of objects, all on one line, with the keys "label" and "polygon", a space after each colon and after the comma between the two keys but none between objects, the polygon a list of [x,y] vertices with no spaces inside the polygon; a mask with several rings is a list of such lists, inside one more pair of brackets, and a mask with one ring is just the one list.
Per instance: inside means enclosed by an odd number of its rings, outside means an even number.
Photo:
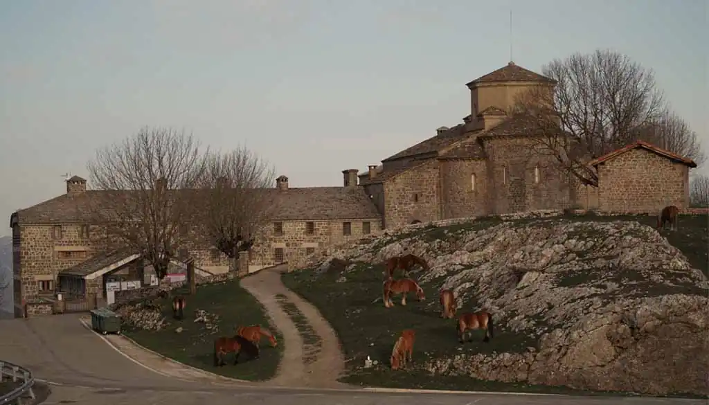
[{"label": "large spreading leafless tree right of the church tower", "polygon": [[553,155],[583,184],[598,185],[588,160],[637,139],[703,159],[696,135],[668,112],[652,70],[629,57],[596,50],[554,60],[542,72],[557,81],[555,89],[539,86],[520,95],[513,114],[537,135],[536,152]]}]

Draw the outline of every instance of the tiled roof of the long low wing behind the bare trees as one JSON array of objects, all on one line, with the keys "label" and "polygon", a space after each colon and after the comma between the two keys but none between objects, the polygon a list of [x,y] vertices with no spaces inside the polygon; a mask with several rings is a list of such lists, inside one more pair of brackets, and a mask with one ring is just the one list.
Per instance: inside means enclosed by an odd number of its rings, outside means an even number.
[{"label": "tiled roof of the long low wing behind the bare trees", "polygon": [[[380,217],[369,196],[359,187],[306,187],[286,191],[274,188],[262,191],[272,195],[277,207],[274,219],[282,221]],[[101,206],[102,199],[106,201],[106,198],[117,197],[116,192],[99,190],[87,190],[73,197],[63,194],[21,209],[13,216],[16,215],[20,223],[86,223],[91,219],[91,208]]]}]

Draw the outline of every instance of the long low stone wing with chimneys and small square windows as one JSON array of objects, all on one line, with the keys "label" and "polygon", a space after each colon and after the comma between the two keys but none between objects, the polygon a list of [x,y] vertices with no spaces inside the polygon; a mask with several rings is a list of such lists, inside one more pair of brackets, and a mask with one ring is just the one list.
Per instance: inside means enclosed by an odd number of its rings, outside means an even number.
[{"label": "long low stone wing with chimneys and small square windows", "polygon": [[[250,250],[250,272],[281,262],[301,260],[334,243],[381,232],[381,216],[357,187],[357,170],[345,170],[343,187],[289,187],[288,178],[277,179],[273,194],[275,215],[264,225]],[[67,192],[12,214],[13,289],[16,316],[24,302],[52,298],[55,292],[106,297],[110,279],[140,279],[150,274],[141,257],[124,249],[104,246],[105,227],[90,225],[91,204],[104,197],[87,190],[86,180],[67,180]],[[189,227],[186,233],[189,235]],[[198,275],[228,270],[228,260],[213,246],[181,240],[179,257],[191,257]],[[184,263],[171,264],[180,272]],[[140,270],[138,270],[140,268]],[[61,288],[59,284],[61,283]]]}]

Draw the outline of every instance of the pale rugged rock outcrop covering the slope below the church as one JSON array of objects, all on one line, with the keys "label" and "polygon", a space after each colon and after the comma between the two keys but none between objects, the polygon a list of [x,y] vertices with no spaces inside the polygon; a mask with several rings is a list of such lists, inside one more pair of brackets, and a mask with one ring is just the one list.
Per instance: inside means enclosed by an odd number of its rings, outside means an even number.
[{"label": "pale rugged rock outcrop covering the slope below the church", "polygon": [[425,289],[453,289],[459,306],[487,309],[502,333],[535,342],[506,353],[438,358],[423,366],[430,372],[709,394],[706,281],[678,249],[637,222],[519,219],[402,228],[333,251],[311,268],[346,266],[347,277],[358,268],[350,263],[378,264],[413,253],[430,265],[418,274]]}]

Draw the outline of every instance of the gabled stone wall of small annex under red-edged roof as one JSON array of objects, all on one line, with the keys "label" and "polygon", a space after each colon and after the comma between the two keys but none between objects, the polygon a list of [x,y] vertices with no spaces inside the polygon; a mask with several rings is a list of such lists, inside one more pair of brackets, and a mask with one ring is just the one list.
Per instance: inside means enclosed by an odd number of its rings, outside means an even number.
[{"label": "gabled stone wall of small annex under red-edged roof", "polygon": [[657,213],[664,206],[689,205],[686,165],[636,148],[598,165],[602,211]]}]

